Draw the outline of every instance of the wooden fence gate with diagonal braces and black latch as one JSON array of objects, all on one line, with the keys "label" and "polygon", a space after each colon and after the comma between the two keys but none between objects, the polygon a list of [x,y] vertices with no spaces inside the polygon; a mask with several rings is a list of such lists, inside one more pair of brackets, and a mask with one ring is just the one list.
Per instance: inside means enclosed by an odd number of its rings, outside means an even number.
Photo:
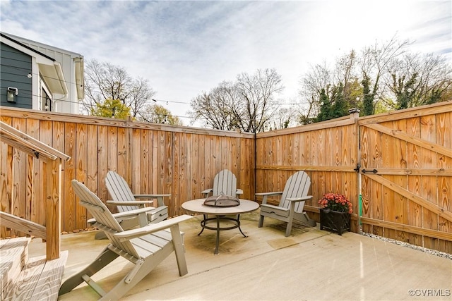
[{"label": "wooden fence gate with diagonal braces and black latch", "polygon": [[362,231],[452,253],[452,104],[359,118]]}]

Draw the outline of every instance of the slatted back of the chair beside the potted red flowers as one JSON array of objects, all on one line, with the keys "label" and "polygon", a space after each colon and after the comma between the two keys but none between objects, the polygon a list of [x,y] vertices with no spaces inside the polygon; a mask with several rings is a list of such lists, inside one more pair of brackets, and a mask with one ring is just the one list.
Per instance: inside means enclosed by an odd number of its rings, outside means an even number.
[{"label": "slatted back of the chair beside the potted red flowers", "polygon": [[[287,198],[291,197],[304,197],[308,195],[309,188],[311,187],[311,178],[304,171],[297,171],[285,183],[283,195],[280,199],[280,207],[289,208],[290,201]],[[295,212],[302,213],[304,202],[297,202],[295,204]]]}]

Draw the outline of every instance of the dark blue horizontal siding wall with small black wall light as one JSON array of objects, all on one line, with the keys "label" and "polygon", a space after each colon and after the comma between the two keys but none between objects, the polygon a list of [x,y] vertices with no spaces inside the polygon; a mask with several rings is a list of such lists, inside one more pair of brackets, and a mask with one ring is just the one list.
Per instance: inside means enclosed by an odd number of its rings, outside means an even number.
[{"label": "dark blue horizontal siding wall with small black wall light", "polygon": [[[6,44],[0,45],[0,105],[32,109],[32,58]],[[37,76],[37,75],[33,75]],[[8,87],[18,88],[16,104],[6,101]]]}]

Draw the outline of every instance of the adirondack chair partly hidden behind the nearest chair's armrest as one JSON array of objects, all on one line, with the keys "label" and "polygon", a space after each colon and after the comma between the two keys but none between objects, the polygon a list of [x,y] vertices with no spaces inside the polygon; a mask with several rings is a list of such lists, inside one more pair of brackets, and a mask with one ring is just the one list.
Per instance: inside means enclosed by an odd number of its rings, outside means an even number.
[{"label": "adirondack chair partly hidden behind the nearest chair's armrest", "polygon": [[[163,202],[163,197],[170,197],[171,195],[133,195],[126,180],[119,176],[114,171],[109,171],[105,177],[105,186],[113,200],[107,200],[107,204],[117,205],[119,212],[126,212],[145,207],[146,204],[153,204],[153,200],[137,199],[157,199],[157,207],[153,210],[147,211],[148,221],[145,223],[157,223],[168,218],[168,207]],[[121,226],[125,229],[136,226],[136,221],[131,222],[131,225],[126,225],[126,221]],[[140,226],[145,226],[141,223]]]}]

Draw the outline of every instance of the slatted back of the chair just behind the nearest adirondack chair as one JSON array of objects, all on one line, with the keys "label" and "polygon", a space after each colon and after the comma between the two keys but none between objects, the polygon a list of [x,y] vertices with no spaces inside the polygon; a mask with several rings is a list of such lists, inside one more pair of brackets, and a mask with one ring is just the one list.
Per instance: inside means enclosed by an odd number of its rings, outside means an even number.
[{"label": "slatted back of the chair just behind the nearest adirondack chair", "polygon": [[[107,176],[105,177],[105,186],[115,202],[124,202],[124,204],[127,204],[126,202],[135,201],[135,197],[133,197],[133,192],[129,188],[129,184],[114,171],[109,171],[107,173]],[[118,206],[117,208],[119,212],[124,212],[138,209],[138,206]]]}]

